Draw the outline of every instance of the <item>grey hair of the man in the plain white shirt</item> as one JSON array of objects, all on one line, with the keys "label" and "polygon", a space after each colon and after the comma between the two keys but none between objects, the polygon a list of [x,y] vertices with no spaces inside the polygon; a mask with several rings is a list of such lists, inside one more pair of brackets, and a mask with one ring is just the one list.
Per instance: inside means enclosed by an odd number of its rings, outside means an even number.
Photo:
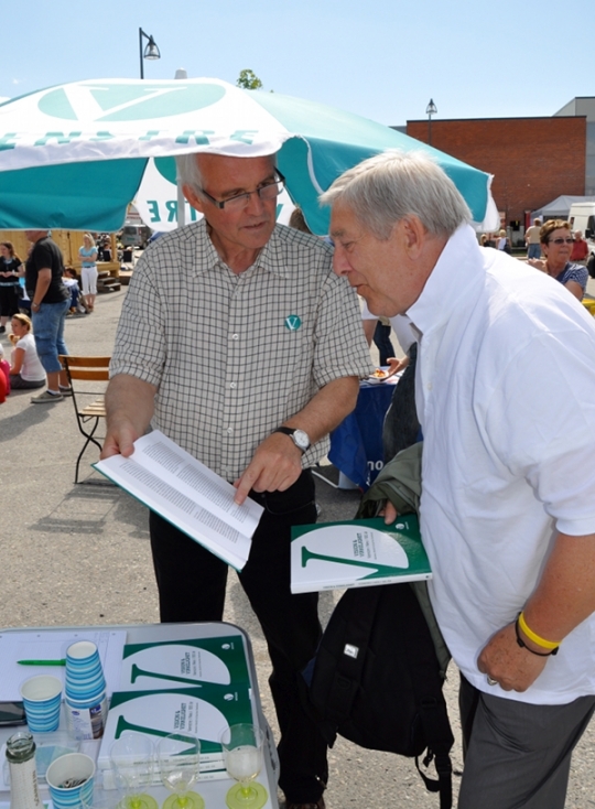
[{"label": "grey hair of the man in the plain white shirt", "polygon": [[342,174],[321,195],[323,205],[347,205],[377,239],[414,214],[434,236],[452,236],[472,220],[467,203],[444,171],[422,151],[389,150]]}]

